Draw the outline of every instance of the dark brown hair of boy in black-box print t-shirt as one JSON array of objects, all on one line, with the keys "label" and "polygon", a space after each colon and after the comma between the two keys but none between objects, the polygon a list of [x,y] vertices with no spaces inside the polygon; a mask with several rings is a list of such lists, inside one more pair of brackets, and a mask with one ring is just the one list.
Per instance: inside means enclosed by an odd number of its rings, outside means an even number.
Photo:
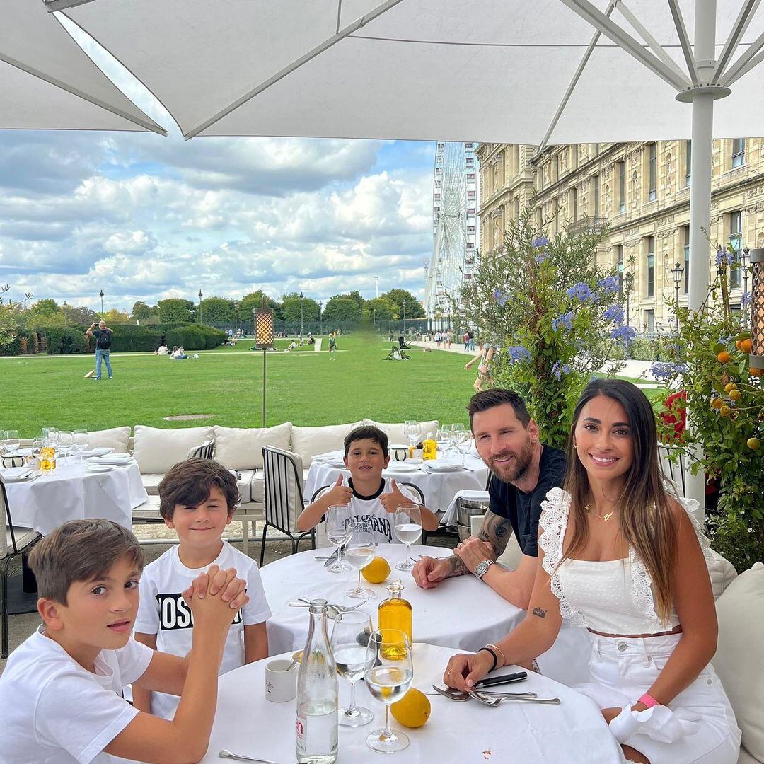
[{"label": "dark brown hair of boy in black-box print t-shirt", "polygon": [[216,485],[225,496],[230,517],[241,501],[236,478],[218,461],[212,459],[186,459],[179,461],[159,484],[159,513],[165,520],[172,519],[175,507],[197,507],[209,499]]}]

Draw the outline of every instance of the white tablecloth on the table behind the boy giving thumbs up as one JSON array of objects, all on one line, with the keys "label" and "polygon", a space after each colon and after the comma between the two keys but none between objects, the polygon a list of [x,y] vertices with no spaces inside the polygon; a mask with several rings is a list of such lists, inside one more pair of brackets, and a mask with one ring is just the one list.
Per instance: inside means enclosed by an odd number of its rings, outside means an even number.
[{"label": "white tablecloth on the table behind the boy giving thumbs up", "polygon": [[[399,483],[413,483],[425,494],[425,504],[433,512],[445,510],[452,502],[456,492],[465,488],[472,490],[484,490],[488,480],[488,468],[481,459],[467,455],[466,466],[468,469],[454,472],[430,472],[421,465],[416,472],[399,472],[394,469],[385,470],[382,474],[385,478],[395,478]],[[390,465],[399,462],[390,461]],[[400,462],[406,464],[406,462]],[[308,477],[305,481],[305,498],[311,500],[313,494],[322,486],[331,485],[337,480],[337,475],[349,476],[350,472],[344,468],[333,467],[321,461],[321,457],[314,458]]]}]

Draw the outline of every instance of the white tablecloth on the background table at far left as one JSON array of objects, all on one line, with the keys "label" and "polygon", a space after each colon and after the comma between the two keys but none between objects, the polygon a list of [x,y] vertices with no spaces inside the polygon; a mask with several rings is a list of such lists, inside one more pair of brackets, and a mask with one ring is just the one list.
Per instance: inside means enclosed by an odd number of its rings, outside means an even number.
[{"label": "white tablecloth on the background table at far left", "polygon": [[[147,500],[135,461],[109,472],[89,472],[75,457],[59,460],[51,474],[32,483],[9,483],[8,503],[15,525],[45,535],[66,520],[102,517],[132,527],[131,510]],[[68,462],[68,463],[67,463]]]}]

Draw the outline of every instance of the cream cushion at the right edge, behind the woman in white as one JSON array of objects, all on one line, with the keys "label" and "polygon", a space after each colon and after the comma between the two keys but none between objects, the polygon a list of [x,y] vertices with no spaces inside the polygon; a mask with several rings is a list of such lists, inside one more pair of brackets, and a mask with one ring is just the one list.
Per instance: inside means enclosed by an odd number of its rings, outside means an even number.
[{"label": "cream cushion at the right edge, behind the woman in white", "polygon": [[714,656],[743,746],[764,761],[764,562],[743,571],[717,600],[719,639]]}]

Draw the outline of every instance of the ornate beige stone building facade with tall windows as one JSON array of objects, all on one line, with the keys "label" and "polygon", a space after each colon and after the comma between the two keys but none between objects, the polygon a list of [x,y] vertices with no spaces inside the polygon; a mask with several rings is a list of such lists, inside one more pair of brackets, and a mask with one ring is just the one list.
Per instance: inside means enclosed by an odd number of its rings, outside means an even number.
[{"label": "ornate beige stone building facade with tall windows", "polygon": [[[607,224],[595,257],[633,273],[630,324],[639,332],[666,332],[674,316],[665,299],[688,299],[690,141],[536,147],[479,144],[481,252],[500,246],[510,219],[533,203],[548,234]],[[764,138],[714,141],[711,244],[764,247]],[[710,267],[715,267],[712,263]],[[710,274],[709,274],[710,275]],[[730,296],[740,305],[743,274],[730,271]],[[750,283],[748,284],[750,287]]]}]

